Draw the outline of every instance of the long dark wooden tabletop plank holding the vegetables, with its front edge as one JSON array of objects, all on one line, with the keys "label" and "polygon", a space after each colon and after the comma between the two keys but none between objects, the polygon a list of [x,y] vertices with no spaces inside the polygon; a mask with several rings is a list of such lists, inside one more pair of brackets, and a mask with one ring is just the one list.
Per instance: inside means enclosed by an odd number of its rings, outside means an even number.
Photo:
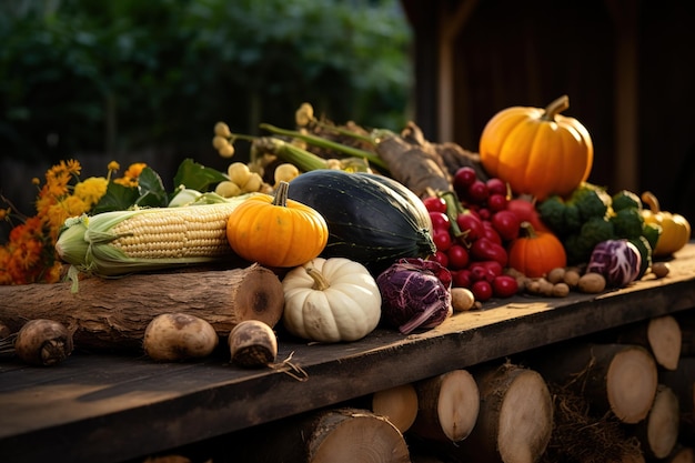
[{"label": "long dark wooden tabletop plank holding the vegetables, with its front edge", "polygon": [[[695,310],[695,244],[672,273],[600,295],[517,296],[457,313],[403,336],[377,329],[354,343],[314,344],[282,331],[279,359],[301,366],[242,370],[221,353],[158,364],[143,356],[75,354],[57,368],[0,363],[0,455],[17,463],[60,454],[117,462],[336,404],[667,313]],[[40,443],[38,445],[37,443]]]}]

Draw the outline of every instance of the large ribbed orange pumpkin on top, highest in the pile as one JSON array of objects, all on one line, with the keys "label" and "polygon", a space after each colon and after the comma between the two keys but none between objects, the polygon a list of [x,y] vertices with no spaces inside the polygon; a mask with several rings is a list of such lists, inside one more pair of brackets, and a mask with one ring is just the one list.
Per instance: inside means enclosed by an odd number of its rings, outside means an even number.
[{"label": "large ribbed orange pumpkin on top, highest in the pile", "polygon": [[563,95],[545,109],[512,107],[496,113],[483,129],[481,162],[491,177],[508,182],[517,194],[544,200],[567,195],[591,173],[594,147]]}]

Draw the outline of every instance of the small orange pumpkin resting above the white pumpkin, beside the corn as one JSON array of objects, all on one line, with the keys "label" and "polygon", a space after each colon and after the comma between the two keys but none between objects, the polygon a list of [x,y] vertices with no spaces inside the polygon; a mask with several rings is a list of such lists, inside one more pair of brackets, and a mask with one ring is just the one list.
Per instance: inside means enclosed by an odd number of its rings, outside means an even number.
[{"label": "small orange pumpkin resting above the white pumpkin, beside the corn", "polygon": [[288,182],[275,195],[255,194],[226,222],[226,239],[236,254],[261,265],[290,268],[316,258],[329,240],[329,228],[315,209],[288,199]]}]

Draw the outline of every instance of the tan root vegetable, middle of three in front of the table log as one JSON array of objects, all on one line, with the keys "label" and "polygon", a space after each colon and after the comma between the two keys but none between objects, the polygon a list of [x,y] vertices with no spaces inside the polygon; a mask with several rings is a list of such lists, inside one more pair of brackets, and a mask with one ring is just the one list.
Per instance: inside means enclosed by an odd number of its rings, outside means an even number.
[{"label": "tan root vegetable, middle of three in front of the table log", "polygon": [[188,313],[163,313],[144,331],[144,353],[160,362],[175,362],[210,355],[218,346],[214,328]]}]

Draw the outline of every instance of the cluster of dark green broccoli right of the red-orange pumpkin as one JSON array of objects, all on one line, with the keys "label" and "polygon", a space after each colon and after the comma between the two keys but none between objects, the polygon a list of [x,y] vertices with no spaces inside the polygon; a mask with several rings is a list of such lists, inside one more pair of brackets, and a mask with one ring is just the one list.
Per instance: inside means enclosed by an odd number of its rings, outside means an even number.
[{"label": "cluster of dark green broccoli right of the red-orange pumpkin", "polygon": [[616,239],[629,240],[638,249],[639,276],[652,263],[661,227],[645,222],[642,201],[631,191],[611,197],[606,189],[583,182],[566,199],[551,195],[537,210],[542,221],[563,242],[570,264],[588,262],[598,243]]}]

